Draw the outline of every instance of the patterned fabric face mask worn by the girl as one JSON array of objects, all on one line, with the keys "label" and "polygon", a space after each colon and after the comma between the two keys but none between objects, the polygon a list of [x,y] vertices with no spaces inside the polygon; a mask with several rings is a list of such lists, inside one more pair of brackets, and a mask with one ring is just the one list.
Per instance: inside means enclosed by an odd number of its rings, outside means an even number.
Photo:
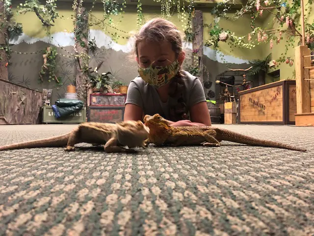
[{"label": "patterned fabric face mask worn by the girl", "polygon": [[140,77],[148,84],[159,88],[168,84],[175,77],[180,69],[178,60],[167,66],[150,65],[147,68],[138,67]]}]

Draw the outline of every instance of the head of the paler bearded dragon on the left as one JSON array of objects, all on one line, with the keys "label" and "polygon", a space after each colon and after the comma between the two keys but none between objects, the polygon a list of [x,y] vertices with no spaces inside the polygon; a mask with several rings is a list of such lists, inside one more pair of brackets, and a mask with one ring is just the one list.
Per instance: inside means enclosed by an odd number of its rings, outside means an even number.
[{"label": "head of the paler bearded dragon on the left", "polygon": [[117,123],[116,137],[118,142],[129,148],[143,147],[150,132],[140,120],[127,120]]}]

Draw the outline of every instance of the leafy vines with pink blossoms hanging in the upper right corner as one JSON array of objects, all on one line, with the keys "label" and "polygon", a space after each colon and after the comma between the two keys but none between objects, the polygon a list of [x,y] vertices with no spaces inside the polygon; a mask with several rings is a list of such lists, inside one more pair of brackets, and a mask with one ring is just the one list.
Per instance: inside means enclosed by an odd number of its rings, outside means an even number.
[{"label": "leafy vines with pink blossoms hanging in the upper right corner", "polygon": [[[307,17],[312,11],[313,0],[305,2],[305,34],[306,45],[314,50],[314,23],[307,22]],[[302,34],[300,16],[301,16],[301,1],[300,0],[248,0],[240,10],[237,10],[231,17],[227,14],[231,9],[231,5],[235,4],[235,0],[226,0],[223,3],[218,3],[211,11],[215,16],[214,22],[206,25],[209,28],[209,40],[206,46],[212,46],[214,49],[219,48],[219,42],[227,42],[231,47],[243,47],[252,49],[256,45],[267,43],[270,49],[274,44],[280,43],[282,40],[285,42],[285,52],[282,57],[276,59],[276,64],[279,62],[286,62],[290,66],[293,65],[293,59],[287,57],[289,50],[295,47],[295,42],[301,44]],[[274,26],[261,28],[256,27],[255,21],[262,18],[263,12],[268,12],[274,17]],[[307,14],[306,14],[307,13]],[[221,18],[237,20],[245,14],[250,15],[251,32],[246,35],[235,35],[229,29],[222,29],[219,25]]]}]

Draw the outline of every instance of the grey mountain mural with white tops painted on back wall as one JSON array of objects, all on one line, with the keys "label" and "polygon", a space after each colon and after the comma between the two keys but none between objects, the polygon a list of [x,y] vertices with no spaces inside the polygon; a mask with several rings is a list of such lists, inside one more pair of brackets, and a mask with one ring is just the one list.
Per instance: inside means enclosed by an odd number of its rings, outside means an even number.
[{"label": "grey mountain mural with white tops painted on back wall", "polygon": [[[120,45],[112,41],[102,30],[90,30],[90,38],[95,39],[97,49],[94,53],[90,52],[89,67],[95,68],[101,61],[104,61],[99,72],[110,71],[116,80],[129,84],[137,74],[137,63],[131,55],[131,41],[126,45]],[[23,85],[30,89],[53,89],[52,104],[58,98],[62,98],[66,92],[66,87],[73,84],[75,80],[75,45],[74,34],[68,32],[57,32],[52,34],[52,38],[31,38],[26,34],[10,40],[13,44],[12,50],[26,54],[12,53],[11,65],[8,68],[9,80],[18,85]],[[38,72],[43,65],[43,51],[46,47],[53,45],[57,48],[57,73],[62,78],[62,86],[56,83],[40,80]],[[183,63],[189,64],[192,58],[192,43],[184,42],[186,60]],[[36,53],[32,53],[36,52]],[[32,54],[27,54],[32,53]],[[216,75],[229,67],[247,68],[248,60],[235,58],[233,56],[223,55],[224,61],[221,60],[220,52],[204,46],[204,65],[209,71],[209,78],[204,78],[206,83],[205,94],[208,99],[214,100]],[[235,64],[235,65],[230,65]],[[210,86],[209,86],[210,85]]]}]

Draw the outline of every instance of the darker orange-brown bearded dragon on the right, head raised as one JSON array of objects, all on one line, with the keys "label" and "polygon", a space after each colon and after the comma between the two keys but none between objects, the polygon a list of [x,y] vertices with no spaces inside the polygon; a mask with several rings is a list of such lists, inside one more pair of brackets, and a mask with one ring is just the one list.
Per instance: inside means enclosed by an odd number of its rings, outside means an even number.
[{"label": "darker orange-brown bearded dragon on the right, head raised", "polygon": [[145,115],[144,124],[150,129],[148,139],[145,140],[145,147],[150,143],[156,146],[163,144],[185,146],[203,143],[203,146],[219,147],[220,142],[225,140],[249,146],[306,151],[303,148],[294,148],[273,141],[257,139],[213,126],[170,126],[168,120],[162,118],[159,114],[154,116]]}]

